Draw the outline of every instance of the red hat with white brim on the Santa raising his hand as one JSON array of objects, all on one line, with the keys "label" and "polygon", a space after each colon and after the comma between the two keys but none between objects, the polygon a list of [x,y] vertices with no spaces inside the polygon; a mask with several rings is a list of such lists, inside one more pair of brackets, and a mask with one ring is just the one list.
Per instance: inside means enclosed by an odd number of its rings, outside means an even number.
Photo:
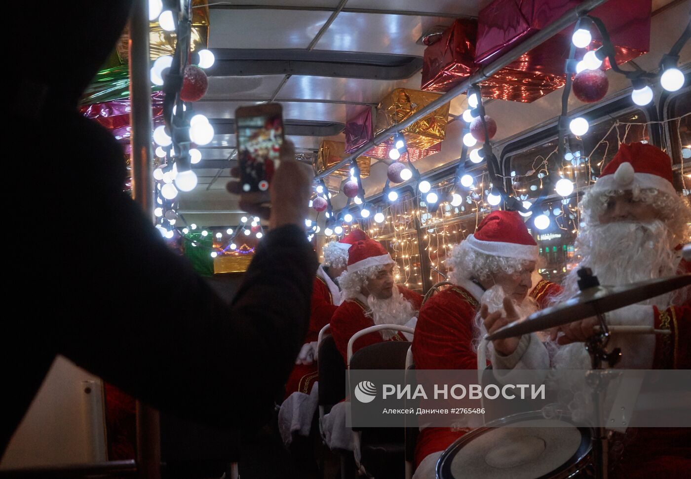
[{"label": "red hat with white brim on the Santa raising his hand", "polygon": [[515,211],[493,211],[484,217],[477,231],[466,238],[466,244],[485,255],[529,261],[539,257],[538,244]]}]

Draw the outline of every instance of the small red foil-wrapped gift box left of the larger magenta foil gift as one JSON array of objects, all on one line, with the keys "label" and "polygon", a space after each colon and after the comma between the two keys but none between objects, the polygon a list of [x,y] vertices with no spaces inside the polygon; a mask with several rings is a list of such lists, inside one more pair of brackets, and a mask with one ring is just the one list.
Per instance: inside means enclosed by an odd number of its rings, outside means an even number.
[{"label": "small red foil-wrapped gift box left of the larger magenta foil gift", "polygon": [[458,19],[425,48],[420,88],[445,92],[475,72],[476,35],[477,21]]}]

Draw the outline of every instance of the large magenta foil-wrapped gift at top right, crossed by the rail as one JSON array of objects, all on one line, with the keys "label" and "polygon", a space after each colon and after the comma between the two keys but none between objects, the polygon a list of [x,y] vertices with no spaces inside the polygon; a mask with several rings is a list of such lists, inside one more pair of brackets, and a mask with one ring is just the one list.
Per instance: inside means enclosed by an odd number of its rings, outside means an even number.
[{"label": "large magenta foil-wrapped gift at top right, crossed by the rail", "polygon": [[[580,0],[495,0],[480,10],[477,17],[477,43],[475,63],[486,64],[517,46],[542,28],[545,28]],[[609,0],[590,15],[605,23],[616,62],[625,63],[650,50],[650,10],[652,0]],[[542,43],[540,57],[567,58],[573,26]],[[600,36],[592,27],[594,42],[599,46]],[[537,49],[536,49],[537,50]],[[532,54],[533,51],[529,52]],[[531,55],[532,56],[532,55]],[[539,59],[536,59],[539,60]],[[547,65],[539,61],[519,59],[508,68],[523,72],[542,72],[546,75],[563,74],[564,65]],[[607,68],[609,63],[607,62]]]}]

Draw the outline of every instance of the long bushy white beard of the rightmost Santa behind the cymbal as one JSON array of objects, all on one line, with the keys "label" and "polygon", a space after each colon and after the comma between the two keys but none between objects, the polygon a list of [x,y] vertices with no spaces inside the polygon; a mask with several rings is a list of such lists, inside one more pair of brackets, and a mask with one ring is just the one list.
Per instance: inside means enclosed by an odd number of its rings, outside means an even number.
[{"label": "long bushy white beard of the rightmost Santa behind the cymbal", "polygon": [[[600,284],[623,286],[676,274],[678,260],[672,235],[659,219],[652,222],[612,222],[586,226],[576,239],[578,267],[566,277],[564,295],[578,293],[580,267],[591,268]],[[654,297],[639,304],[670,305],[671,294]]]}]

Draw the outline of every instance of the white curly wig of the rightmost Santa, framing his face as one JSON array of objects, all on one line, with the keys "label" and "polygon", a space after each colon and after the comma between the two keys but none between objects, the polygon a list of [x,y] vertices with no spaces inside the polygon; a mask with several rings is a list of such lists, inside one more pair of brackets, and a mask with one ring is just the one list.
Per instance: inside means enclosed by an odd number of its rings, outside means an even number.
[{"label": "white curly wig of the rightmost Santa, framing his face", "polygon": [[[624,190],[596,190],[588,188],[579,207],[586,224],[599,224],[609,199],[622,195]],[[691,239],[691,207],[688,199],[681,195],[670,195],[654,188],[633,188],[636,201],[652,205],[659,212],[659,219],[667,225],[676,244],[688,243]]]}]

